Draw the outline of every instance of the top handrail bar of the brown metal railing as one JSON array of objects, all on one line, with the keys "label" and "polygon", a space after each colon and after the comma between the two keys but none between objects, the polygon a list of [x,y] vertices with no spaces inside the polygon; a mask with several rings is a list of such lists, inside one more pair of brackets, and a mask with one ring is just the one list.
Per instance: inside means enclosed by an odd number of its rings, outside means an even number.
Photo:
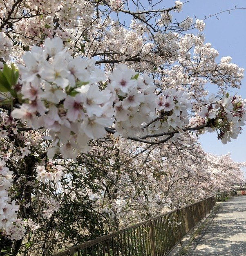
[{"label": "top handrail bar of the brown metal railing", "polygon": [[159,215],[159,216],[150,218],[150,219],[148,219],[148,220],[144,220],[143,222],[139,222],[139,223],[134,224],[134,225],[132,225],[132,226],[130,226],[130,227],[127,227],[127,228],[125,228],[125,229],[121,229],[121,230],[119,230],[119,231],[115,231],[115,232],[112,232],[112,233],[110,233],[110,234],[107,234],[107,235],[104,235],[104,236],[100,236],[99,238],[96,238],[96,239],[87,241],[87,242],[82,243],[82,244],[80,244],[80,245],[75,245],[75,246],[73,246],[73,247],[69,247],[69,249],[67,249],[67,250],[65,250],[65,251],[63,251],[63,252],[57,253],[57,254],[53,254],[53,256],[71,255],[71,254],[77,252],[78,249],[85,249],[85,248],[90,247],[90,246],[92,246],[92,245],[96,245],[98,242],[103,242],[103,241],[105,241],[105,240],[107,240],[107,239],[109,239],[109,238],[112,238],[112,237],[114,237],[114,236],[118,236],[118,235],[120,235],[120,234],[123,234],[125,231],[129,231],[130,229],[133,229],[133,228],[136,228],[136,227],[140,227],[141,225],[148,224],[149,222],[151,222],[151,221],[153,221],[153,220],[157,220],[157,219],[159,219],[159,218],[161,218],[161,217],[163,217],[163,216],[166,216],[166,215],[168,215],[168,214],[170,214],[170,213],[174,213],[174,212],[177,212],[177,211],[181,211],[182,209],[186,209],[186,208],[188,208],[188,207],[191,207],[192,205],[199,204],[200,202],[206,201],[206,200],[208,200],[208,199],[210,199],[210,198],[214,198],[214,197],[209,197],[209,198],[206,198],[206,199],[201,200],[201,201],[199,201],[199,202],[196,202],[196,203],[193,203],[193,204],[188,204],[188,205],[186,205],[185,207],[181,207],[181,208],[179,208],[179,209],[177,209],[177,210],[169,211],[169,212],[167,212],[167,213],[164,213],[164,214],[161,214],[161,215]]}]

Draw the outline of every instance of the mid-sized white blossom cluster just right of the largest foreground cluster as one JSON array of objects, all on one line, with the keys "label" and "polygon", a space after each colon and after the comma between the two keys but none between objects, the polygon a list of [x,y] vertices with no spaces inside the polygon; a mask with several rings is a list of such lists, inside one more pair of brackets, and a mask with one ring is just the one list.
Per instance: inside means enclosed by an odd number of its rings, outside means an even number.
[{"label": "mid-sized white blossom cluster just right of the largest foreground cluster", "polygon": [[114,95],[115,136],[139,135],[143,124],[154,116],[157,96],[152,79],[146,73],[139,76],[127,65],[120,64],[109,75],[107,88]]}]

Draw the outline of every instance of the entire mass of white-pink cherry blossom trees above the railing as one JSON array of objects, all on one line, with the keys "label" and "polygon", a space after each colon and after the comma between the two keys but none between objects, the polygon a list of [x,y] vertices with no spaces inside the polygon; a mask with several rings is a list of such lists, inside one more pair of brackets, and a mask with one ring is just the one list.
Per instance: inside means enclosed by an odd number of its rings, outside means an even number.
[{"label": "entire mass of white-pink cherry blossom trees above the railing", "polygon": [[243,69],[216,60],[203,20],[172,18],[180,1],[157,7],[0,2],[2,254],[48,255],[242,181],[195,135],[241,133],[228,89]]}]

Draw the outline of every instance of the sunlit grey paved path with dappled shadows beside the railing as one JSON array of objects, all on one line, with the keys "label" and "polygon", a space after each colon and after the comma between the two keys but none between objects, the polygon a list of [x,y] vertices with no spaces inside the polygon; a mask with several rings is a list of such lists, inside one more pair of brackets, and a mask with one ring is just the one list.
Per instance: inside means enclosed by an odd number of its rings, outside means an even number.
[{"label": "sunlit grey paved path with dappled shadows beside the railing", "polygon": [[246,256],[246,196],[222,202],[209,222],[189,256]]}]

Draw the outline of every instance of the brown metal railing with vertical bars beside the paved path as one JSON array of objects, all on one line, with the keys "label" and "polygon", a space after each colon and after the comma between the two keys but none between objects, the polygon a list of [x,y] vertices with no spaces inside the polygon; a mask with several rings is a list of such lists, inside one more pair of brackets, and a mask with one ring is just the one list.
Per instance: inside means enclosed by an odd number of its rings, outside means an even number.
[{"label": "brown metal railing with vertical bars beside the paved path", "polygon": [[215,198],[70,247],[54,256],[164,256],[215,206]]}]

